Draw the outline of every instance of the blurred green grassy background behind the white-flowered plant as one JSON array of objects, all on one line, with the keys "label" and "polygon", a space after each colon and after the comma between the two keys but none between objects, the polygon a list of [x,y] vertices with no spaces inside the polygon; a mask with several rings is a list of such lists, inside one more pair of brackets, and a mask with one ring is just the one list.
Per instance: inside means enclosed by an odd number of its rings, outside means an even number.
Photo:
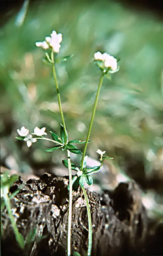
[{"label": "blurred green grassy background behind the white-flowered plant", "polygon": [[[23,3],[22,3],[23,4]],[[49,143],[31,148],[15,140],[25,125],[59,131],[61,122],[52,70],[35,46],[53,29],[63,34],[57,65],[69,138],[86,138],[100,70],[96,51],[120,58],[120,71],[104,80],[88,155],[97,148],[144,188],[162,192],[163,26],[155,12],[116,1],[33,1],[12,14],[0,31],[1,164],[40,175],[60,163],[61,153],[45,153]],[[21,20],[21,14],[24,21]],[[118,171],[118,172],[119,172]]]}]

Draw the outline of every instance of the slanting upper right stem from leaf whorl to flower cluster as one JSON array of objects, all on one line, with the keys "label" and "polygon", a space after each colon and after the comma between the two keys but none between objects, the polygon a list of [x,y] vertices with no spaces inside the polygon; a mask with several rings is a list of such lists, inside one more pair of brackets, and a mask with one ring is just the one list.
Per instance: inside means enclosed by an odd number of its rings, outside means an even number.
[{"label": "slanting upper right stem from leaf whorl to flower cluster", "polygon": [[88,134],[87,134],[87,138],[86,138],[86,143],[84,145],[84,150],[83,150],[83,153],[82,153],[82,160],[81,160],[81,170],[83,168],[83,163],[84,163],[84,157],[86,155],[86,148],[88,146],[88,141],[89,141],[89,136],[91,134],[91,127],[93,125],[93,120],[95,118],[95,113],[96,113],[96,109],[97,109],[97,102],[98,102],[98,97],[100,95],[100,90],[101,90],[101,87],[102,87],[102,81],[104,79],[104,73],[102,73],[102,76],[100,78],[100,82],[98,84],[98,90],[97,90],[97,96],[96,96],[96,99],[95,99],[95,103],[94,103],[94,107],[93,107],[93,112],[92,112],[92,115],[91,115],[91,122],[89,124],[89,129],[88,129]]}]

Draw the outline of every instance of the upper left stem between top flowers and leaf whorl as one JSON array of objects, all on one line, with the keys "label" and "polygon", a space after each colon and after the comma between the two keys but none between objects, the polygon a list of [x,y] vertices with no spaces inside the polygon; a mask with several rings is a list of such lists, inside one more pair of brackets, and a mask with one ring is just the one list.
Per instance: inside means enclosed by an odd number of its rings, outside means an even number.
[{"label": "upper left stem between top flowers and leaf whorl", "polygon": [[[65,124],[65,118],[63,116],[63,110],[62,110],[62,106],[61,106],[61,96],[59,93],[59,86],[58,86],[58,80],[56,77],[56,68],[55,68],[55,64],[54,64],[54,52],[51,52],[51,60],[52,60],[52,72],[53,72],[53,76],[54,76],[54,81],[56,83],[56,90],[57,90],[57,97],[58,97],[58,105],[59,105],[59,111],[61,113],[61,120],[63,122],[63,128],[66,134],[66,124]],[[66,138],[65,138],[65,144],[66,144]]]}]

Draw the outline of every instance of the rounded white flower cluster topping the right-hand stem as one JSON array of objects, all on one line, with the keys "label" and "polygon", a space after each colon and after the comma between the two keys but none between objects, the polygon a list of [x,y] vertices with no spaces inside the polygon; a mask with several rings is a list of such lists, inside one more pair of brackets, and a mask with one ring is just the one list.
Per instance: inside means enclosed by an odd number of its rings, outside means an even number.
[{"label": "rounded white flower cluster topping the right-hand stem", "polygon": [[95,52],[94,59],[102,61],[104,67],[111,68],[112,72],[118,71],[118,65],[117,65],[116,58],[107,54],[107,52],[105,52],[103,54],[101,52]]}]

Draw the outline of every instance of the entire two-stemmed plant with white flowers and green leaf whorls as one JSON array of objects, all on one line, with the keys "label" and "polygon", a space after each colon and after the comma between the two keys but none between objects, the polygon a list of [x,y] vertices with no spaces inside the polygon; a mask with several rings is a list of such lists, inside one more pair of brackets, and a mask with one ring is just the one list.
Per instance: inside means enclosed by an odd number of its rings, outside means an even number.
[{"label": "entire two-stemmed plant with white flowers and green leaf whorls", "polygon": [[[98,84],[97,95],[95,97],[95,102],[93,106],[93,111],[91,115],[91,121],[88,128],[88,134],[85,141],[81,140],[70,140],[68,141],[68,133],[66,131],[66,124],[65,118],[63,114],[63,109],[61,106],[61,96],[59,93],[59,86],[58,86],[58,79],[56,77],[56,53],[59,52],[61,47],[62,35],[61,33],[57,34],[56,31],[52,31],[50,36],[46,36],[45,41],[43,42],[36,42],[37,47],[41,47],[43,50],[50,49],[50,56],[48,52],[45,52],[46,60],[52,66],[52,72],[54,76],[54,82],[56,84],[56,91],[58,93],[58,105],[59,111],[61,115],[61,122],[60,125],[60,134],[56,134],[50,131],[50,136],[52,138],[47,138],[47,132],[45,132],[45,127],[39,128],[35,127],[34,132],[29,133],[29,130],[26,127],[22,126],[21,129],[17,129],[19,137],[16,137],[18,140],[24,140],[27,143],[27,147],[31,147],[32,143],[35,143],[37,140],[47,140],[53,142],[55,145],[54,147],[47,148],[45,151],[47,152],[54,152],[54,150],[66,150],[67,159],[63,159],[62,163],[68,168],[69,174],[69,206],[68,206],[68,234],[67,234],[67,255],[71,255],[71,221],[72,221],[72,189],[77,189],[81,186],[82,191],[84,193],[84,198],[86,200],[86,207],[88,212],[88,255],[91,255],[91,246],[92,246],[92,227],[91,227],[91,211],[89,209],[89,200],[86,193],[86,189],[84,188],[85,184],[91,186],[93,183],[93,179],[91,174],[99,172],[100,168],[105,159],[111,159],[111,157],[104,156],[105,151],[100,149],[97,150],[97,154],[100,155],[100,164],[98,166],[88,167],[86,162],[88,156],[86,156],[86,149],[88,147],[89,137],[91,134],[91,128],[93,125],[93,120],[95,118],[95,113],[97,109],[97,102],[100,95],[100,90],[102,88],[102,82],[104,77],[111,78],[111,73],[117,72],[119,70],[118,61],[113,56],[107,54],[106,52],[102,54],[101,52],[95,52],[94,54],[94,61],[97,63],[98,67],[102,71],[100,81]],[[54,55],[55,53],[55,55]],[[70,56],[64,56],[61,60],[67,60]],[[84,144],[83,152],[79,150],[74,144]],[[80,167],[76,166],[71,161],[71,154],[82,154],[81,163],[79,164]],[[72,177],[72,170],[76,172],[76,174]]]}]

